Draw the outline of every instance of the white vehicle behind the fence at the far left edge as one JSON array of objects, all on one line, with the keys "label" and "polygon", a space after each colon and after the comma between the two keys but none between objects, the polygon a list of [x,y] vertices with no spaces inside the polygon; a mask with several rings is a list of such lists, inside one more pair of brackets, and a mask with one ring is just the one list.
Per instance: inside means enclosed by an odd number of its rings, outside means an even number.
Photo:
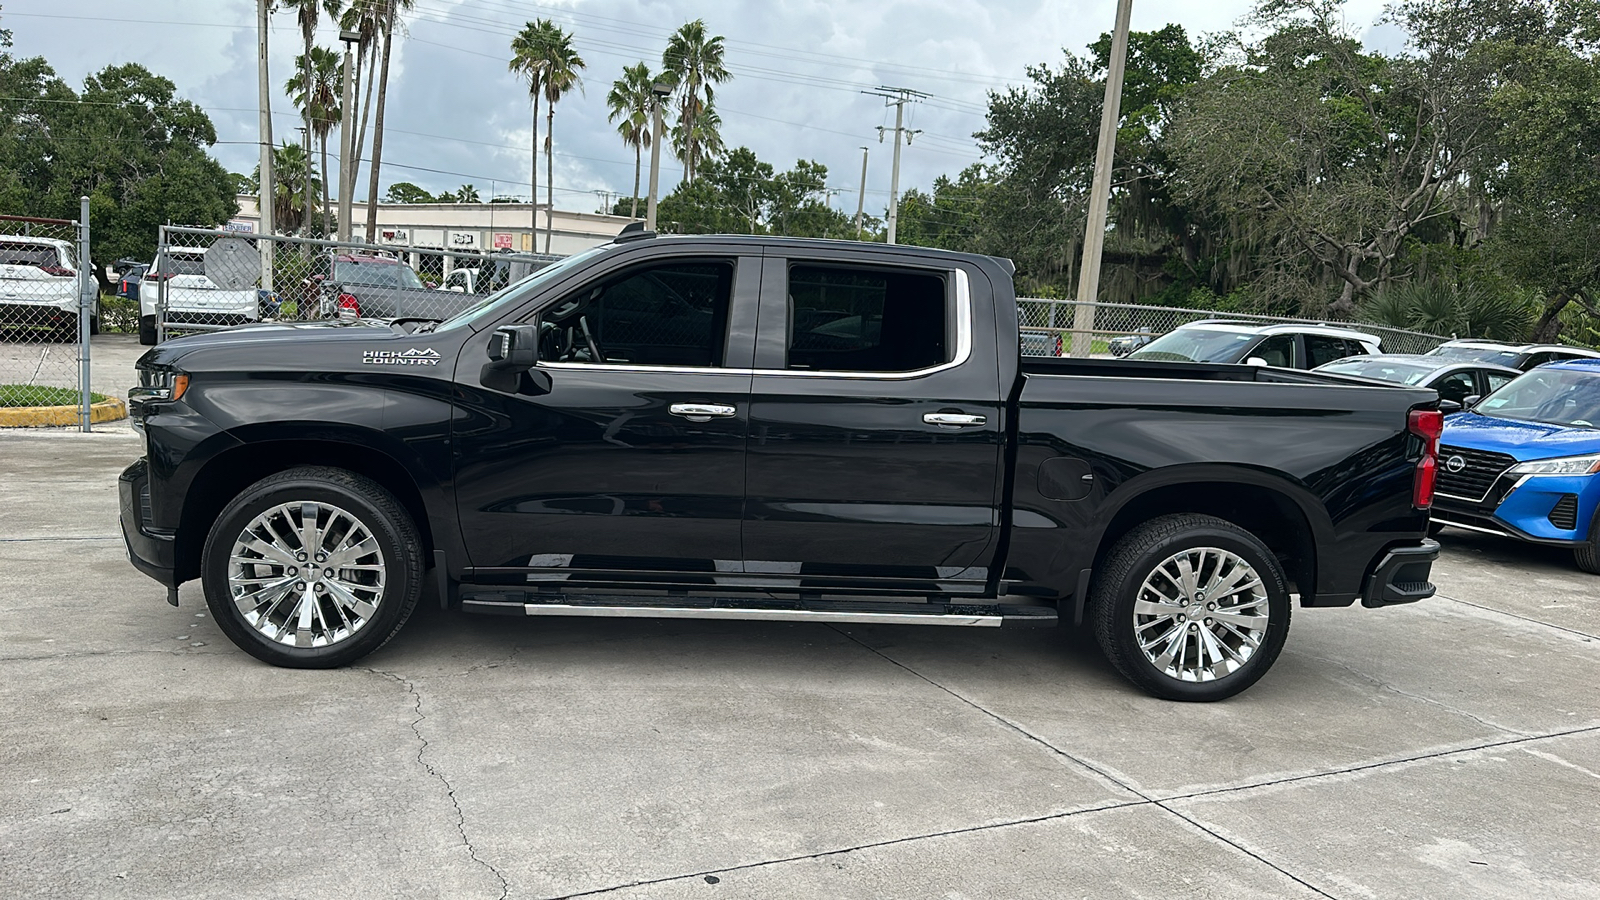
[{"label": "white vehicle behind the fence at the far left edge", "polygon": [[[0,234],[0,323],[43,325],[53,340],[77,341],[80,290],[72,243]],[[90,314],[90,333],[99,333],[98,296]]]}]

